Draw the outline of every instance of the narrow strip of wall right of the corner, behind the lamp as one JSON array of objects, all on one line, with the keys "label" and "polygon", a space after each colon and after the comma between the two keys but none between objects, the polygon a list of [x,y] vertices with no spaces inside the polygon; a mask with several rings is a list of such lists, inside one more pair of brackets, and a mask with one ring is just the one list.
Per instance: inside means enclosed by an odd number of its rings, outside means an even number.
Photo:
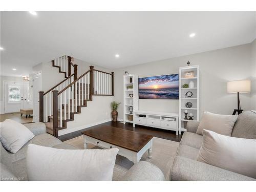
[{"label": "narrow strip of wall right of the corner, behind the lamp", "polygon": [[256,39],[251,44],[251,109],[256,110]]}]

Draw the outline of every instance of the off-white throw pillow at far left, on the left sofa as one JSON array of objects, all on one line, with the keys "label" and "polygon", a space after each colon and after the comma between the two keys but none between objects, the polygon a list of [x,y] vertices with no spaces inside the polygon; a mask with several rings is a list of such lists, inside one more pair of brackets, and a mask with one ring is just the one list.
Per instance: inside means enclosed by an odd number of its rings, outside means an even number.
[{"label": "off-white throw pillow at far left, on the left sofa", "polygon": [[7,151],[17,153],[34,134],[23,124],[6,119],[0,123],[0,141]]}]

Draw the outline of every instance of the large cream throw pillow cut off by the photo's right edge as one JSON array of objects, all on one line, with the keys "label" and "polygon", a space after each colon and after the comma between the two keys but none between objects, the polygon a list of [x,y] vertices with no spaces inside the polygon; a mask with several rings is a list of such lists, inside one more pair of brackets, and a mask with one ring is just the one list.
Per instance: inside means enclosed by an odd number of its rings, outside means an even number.
[{"label": "large cream throw pillow cut off by the photo's right edge", "polygon": [[244,139],[203,130],[197,160],[256,178],[256,139]]}]

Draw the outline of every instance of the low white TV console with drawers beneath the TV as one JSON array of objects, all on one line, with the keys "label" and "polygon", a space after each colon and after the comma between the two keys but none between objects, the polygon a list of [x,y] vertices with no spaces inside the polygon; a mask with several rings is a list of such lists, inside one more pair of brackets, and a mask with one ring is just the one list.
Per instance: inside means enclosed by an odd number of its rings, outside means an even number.
[{"label": "low white TV console with drawers beneath the TV", "polygon": [[[139,117],[139,115],[145,115],[145,117]],[[170,118],[172,120],[164,120],[164,118]],[[151,112],[151,111],[134,111],[133,126],[135,124],[156,127],[164,130],[176,131],[176,135],[179,135],[179,114],[178,113],[163,113],[163,112]]]}]

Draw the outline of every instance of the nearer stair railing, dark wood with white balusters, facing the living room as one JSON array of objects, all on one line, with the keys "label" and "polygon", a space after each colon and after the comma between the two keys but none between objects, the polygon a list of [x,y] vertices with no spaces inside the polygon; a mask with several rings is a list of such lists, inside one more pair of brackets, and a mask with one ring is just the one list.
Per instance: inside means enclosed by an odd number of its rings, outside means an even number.
[{"label": "nearer stair railing, dark wood with white balusters, facing the living room", "polygon": [[58,131],[66,128],[67,121],[74,120],[74,114],[80,113],[81,106],[86,106],[93,95],[114,95],[114,73],[95,70],[90,66],[90,70],[67,87],[59,92],[58,90],[52,92],[53,134],[58,137]]}]

